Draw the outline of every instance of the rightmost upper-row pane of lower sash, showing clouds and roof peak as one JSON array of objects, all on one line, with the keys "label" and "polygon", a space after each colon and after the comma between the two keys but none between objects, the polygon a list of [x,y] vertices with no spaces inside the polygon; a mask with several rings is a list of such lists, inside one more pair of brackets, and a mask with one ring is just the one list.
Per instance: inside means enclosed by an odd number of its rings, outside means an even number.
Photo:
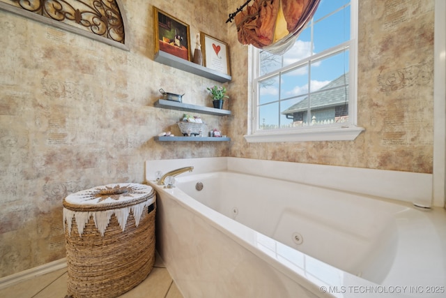
[{"label": "rightmost upper-row pane of lower sash, showing clouds and roof peak", "polygon": [[314,92],[323,87],[336,87],[348,84],[348,50],[312,63],[312,80],[310,91]]}]

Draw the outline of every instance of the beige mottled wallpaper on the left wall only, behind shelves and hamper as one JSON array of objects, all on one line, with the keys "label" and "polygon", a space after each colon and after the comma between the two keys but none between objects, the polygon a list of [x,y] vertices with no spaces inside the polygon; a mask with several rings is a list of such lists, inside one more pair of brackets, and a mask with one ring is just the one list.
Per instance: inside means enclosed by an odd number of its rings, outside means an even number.
[{"label": "beige mottled wallpaper on the left wall only, behind shelves and hamper", "polygon": [[[183,116],[153,107],[158,89],[211,106],[216,83],[153,61],[153,6],[190,24],[194,45],[200,30],[226,38],[226,4],[121,2],[130,52],[0,10],[0,277],[65,257],[68,193],[142,182],[146,159],[229,154],[224,142],[153,141],[178,135]],[[229,117],[200,116],[229,134]]]}]

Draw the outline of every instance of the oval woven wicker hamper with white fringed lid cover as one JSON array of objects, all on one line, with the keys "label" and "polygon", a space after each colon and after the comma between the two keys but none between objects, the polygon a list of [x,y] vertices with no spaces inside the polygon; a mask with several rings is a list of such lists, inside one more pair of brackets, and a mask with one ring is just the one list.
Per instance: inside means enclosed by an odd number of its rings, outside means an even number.
[{"label": "oval woven wicker hamper with white fringed lid cover", "polygon": [[144,281],[155,263],[155,191],[108,184],[63,200],[68,295],[118,297]]}]

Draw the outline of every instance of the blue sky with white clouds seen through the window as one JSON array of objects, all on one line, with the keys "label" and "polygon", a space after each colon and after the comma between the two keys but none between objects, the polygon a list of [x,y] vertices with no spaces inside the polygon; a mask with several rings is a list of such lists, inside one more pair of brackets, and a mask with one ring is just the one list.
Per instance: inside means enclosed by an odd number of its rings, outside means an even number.
[{"label": "blue sky with white clouds seen through the window", "polygon": [[[350,6],[333,13],[350,0],[321,0],[314,15],[314,43],[312,45],[311,29],[307,27],[300,33],[295,45],[283,55],[283,66],[291,65],[297,61],[314,54],[328,50],[330,47],[350,39]],[[328,16],[327,16],[328,15]],[[276,57],[276,62],[263,66],[262,70],[275,70],[282,66],[282,59]],[[321,59],[311,64],[311,78],[308,84],[308,65],[302,66],[288,73],[282,73],[282,84],[279,87],[279,76],[268,80],[266,87],[260,90],[261,107],[260,123],[278,125],[279,94],[280,111],[298,103],[306,97],[308,89],[316,91],[345,72],[348,72],[348,51],[341,52],[332,57]],[[281,124],[291,123],[291,120],[281,117]]]}]

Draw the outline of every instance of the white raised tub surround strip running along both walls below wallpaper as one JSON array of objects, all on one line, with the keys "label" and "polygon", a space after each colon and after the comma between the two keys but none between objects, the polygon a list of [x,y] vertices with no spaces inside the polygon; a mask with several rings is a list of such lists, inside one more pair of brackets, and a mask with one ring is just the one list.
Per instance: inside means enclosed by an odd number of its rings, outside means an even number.
[{"label": "white raised tub surround strip running along both walls below wallpaper", "polygon": [[[153,181],[156,171],[166,173],[189,165],[194,166],[193,173],[181,175],[229,170],[403,202],[432,200],[432,174],[253,158],[209,157],[146,161],[145,179]],[[433,206],[443,207],[438,202],[433,202]]]}]

